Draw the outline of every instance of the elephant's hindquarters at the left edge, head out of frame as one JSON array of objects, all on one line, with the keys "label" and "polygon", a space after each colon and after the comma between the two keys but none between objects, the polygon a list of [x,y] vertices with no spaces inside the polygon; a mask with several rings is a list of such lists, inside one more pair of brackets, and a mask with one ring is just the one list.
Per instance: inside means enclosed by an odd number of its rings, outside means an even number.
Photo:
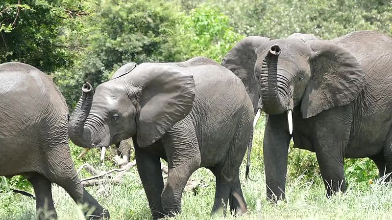
[{"label": "elephant's hindquarters at the left edge, head out of frame", "polygon": [[[38,219],[57,219],[51,183],[77,203],[87,203],[86,219],[109,218],[80,183],[68,144],[68,108],[51,79],[22,63],[0,65],[0,175],[25,176],[33,185]],[[44,210],[44,207],[47,207]]]}]

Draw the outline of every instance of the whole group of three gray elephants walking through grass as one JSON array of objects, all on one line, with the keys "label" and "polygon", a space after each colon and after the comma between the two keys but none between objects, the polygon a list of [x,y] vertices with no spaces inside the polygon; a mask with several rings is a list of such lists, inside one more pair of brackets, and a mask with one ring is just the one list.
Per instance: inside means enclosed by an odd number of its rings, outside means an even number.
[{"label": "whole group of three gray elephants walking through grass", "polygon": [[[211,214],[224,215],[226,205],[244,214],[240,165],[247,151],[247,176],[260,110],[271,201],[285,198],[291,139],[316,153],[327,196],[346,190],[344,157],[369,157],[380,176],[392,172],[392,38],[375,31],[333,40],[250,36],[221,64],[204,57],[125,64],[96,89],[84,84],[71,115],[49,76],[33,66],[1,64],[0,82],[0,175],[31,182],[39,219],[57,218],[51,183],[87,204],[86,219],[109,219],[81,184],[69,139],[105,149],[132,138],[153,219],[181,211],[199,167],[216,176]],[[160,158],[168,162],[165,184]]]}]

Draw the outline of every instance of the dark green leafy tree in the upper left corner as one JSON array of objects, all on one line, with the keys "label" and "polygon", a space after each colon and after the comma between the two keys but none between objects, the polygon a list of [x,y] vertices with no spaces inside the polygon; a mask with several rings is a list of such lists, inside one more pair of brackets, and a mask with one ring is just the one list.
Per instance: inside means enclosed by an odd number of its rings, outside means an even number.
[{"label": "dark green leafy tree in the upper left corner", "polygon": [[[16,0],[0,3],[0,63],[20,61],[43,71],[70,66],[66,40],[59,35],[67,26],[65,1]],[[44,59],[43,59],[44,58]]]}]

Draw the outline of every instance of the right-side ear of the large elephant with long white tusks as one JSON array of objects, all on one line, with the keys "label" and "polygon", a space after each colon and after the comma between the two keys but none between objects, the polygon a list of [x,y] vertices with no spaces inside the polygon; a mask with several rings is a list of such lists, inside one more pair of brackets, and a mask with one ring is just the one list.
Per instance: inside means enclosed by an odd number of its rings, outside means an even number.
[{"label": "right-side ear of the large elephant with long white tusks", "polygon": [[361,92],[365,71],[345,48],[323,40],[307,41],[313,53],[311,77],[301,102],[303,118],[347,105]]}]

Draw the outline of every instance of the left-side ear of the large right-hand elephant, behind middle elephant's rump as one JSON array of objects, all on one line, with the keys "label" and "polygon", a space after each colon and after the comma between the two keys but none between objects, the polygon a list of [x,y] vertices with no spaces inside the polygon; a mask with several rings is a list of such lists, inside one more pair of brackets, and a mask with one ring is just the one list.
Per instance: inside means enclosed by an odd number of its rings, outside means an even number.
[{"label": "left-side ear of the large right-hand elephant, behind middle elephant's rump", "polygon": [[230,69],[244,83],[255,113],[259,102],[259,83],[254,75],[257,49],[270,40],[260,36],[246,37],[235,44],[222,60],[222,66]]}]

